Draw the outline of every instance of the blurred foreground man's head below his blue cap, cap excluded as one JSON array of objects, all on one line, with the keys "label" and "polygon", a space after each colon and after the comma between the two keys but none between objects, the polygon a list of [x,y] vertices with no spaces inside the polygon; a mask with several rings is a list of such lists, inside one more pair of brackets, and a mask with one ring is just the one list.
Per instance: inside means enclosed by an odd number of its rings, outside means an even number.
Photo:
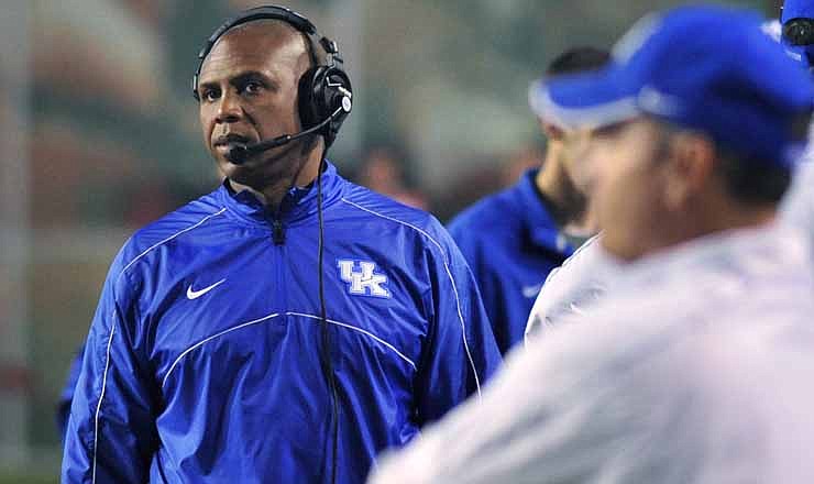
[{"label": "blurred foreground man's head below his blue cap, cap excluded", "polygon": [[632,260],[656,249],[770,219],[791,170],[746,160],[702,132],[649,116],[595,130],[594,207],[603,244]]}]

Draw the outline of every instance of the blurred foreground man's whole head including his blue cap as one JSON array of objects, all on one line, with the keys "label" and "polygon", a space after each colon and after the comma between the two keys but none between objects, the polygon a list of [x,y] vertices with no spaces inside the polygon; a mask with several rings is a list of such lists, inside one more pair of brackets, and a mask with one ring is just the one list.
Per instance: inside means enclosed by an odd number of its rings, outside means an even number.
[{"label": "blurred foreground man's whole head including his blue cap", "polygon": [[600,167],[603,243],[629,260],[770,219],[814,88],[756,15],[688,7],[640,21],[607,68],[553,79],[541,99],[561,123],[594,130],[585,157]]}]

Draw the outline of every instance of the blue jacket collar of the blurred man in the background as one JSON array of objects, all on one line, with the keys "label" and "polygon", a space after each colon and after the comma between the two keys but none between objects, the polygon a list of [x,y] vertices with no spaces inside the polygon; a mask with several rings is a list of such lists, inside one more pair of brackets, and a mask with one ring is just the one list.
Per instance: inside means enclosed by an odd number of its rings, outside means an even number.
[{"label": "blue jacket collar of the blurred man in the background", "polygon": [[563,256],[569,256],[574,252],[574,248],[560,233],[557,222],[549,213],[538,193],[535,179],[539,170],[539,168],[527,170],[515,186],[520,197],[520,207],[522,207],[520,212],[522,224],[535,245]]}]

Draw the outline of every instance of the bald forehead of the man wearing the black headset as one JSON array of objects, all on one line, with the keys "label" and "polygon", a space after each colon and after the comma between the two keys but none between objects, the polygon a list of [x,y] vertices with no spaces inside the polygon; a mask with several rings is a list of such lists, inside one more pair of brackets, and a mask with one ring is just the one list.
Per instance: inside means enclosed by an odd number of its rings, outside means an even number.
[{"label": "bald forehead of the man wearing the black headset", "polygon": [[255,21],[231,29],[218,40],[201,66],[200,81],[249,70],[299,74],[308,61],[306,40],[296,29],[282,21]]}]

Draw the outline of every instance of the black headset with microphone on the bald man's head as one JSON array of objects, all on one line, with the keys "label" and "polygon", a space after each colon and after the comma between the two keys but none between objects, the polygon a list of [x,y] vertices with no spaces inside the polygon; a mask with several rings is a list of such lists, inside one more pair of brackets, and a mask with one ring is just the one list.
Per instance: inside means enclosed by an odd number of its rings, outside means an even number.
[{"label": "black headset with microphone on the bald man's head", "polygon": [[311,56],[312,66],[299,79],[297,99],[302,131],[261,141],[248,147],[238,146],[237,150],[231,150],[228,156],[230,161],[239,162],[237,164],[244,163],[249,155],[271,150],[311,133],[321,134],[324,138],[327,150],[337,139],[342,122],[348,118],[353,107],[353,88],[350,77],[342,68],[343,61],[338,44],[328,37],[321,36],[314,23],[304,15],[276,6],[245,10],[223,22],[209,36],[198,53],[198,67],[193,76],[193,96],[195,99],[200,100],[198,95],[200,70],[218,40],[238,25],[264,19],[284,21],[308,38],[308,52]]}]

